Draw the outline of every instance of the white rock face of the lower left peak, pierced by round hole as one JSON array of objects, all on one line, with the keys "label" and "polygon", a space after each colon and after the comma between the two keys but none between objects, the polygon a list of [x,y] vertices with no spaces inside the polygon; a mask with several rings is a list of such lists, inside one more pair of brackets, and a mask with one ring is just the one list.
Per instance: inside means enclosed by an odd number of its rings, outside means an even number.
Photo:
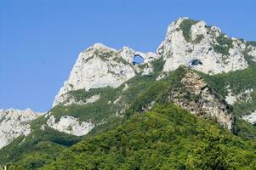
[{"label": "white rock face of the lower left peak, pierced by round hole", "polygon": [[[144,64],[146,66],[144,70],[140,70],[137,65],[133,65],[134,54],[139,54],[145,59]],[[93,47],[79,54],[71,75],[64,83],[64,87],[60,88],[53,106],[65,102],[65,99],[67,99],[65,94],[69,91],[83,88],[88,91],[90,88],[104,88],[107,86],[117,88],[123,82],[134,77],[137,72],[149,74],[152,71],[149,61],[158,58],[159,55],[154,53],[143,54],[126,47],[117,51],[96,43]]]}]

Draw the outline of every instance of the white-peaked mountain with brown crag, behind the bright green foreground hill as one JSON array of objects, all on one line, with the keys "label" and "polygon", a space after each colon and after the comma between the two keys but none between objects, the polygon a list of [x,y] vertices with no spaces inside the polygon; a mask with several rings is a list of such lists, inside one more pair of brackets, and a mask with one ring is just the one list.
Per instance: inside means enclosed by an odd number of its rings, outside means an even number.
[{"label": "white-peaked mountain with brown crag, behind the bright green foreground hill", "polygon": [[[143,61],[137,63],[135,56]],[[156,54],[95,43],[79,54],[53,108],[28,123],[29,133],[12,135],[0,150],[0,164],[41,155],[39,146],[47,153],[42,154],[47,158],[39,156],[45,164],[62,149],[162,104],[178,105],[244,139],[256,139],[255,129],[241,119],[254,120],[245,115],[256,111],[255,62],[256,44],[189,18],[168,26]],[[58,151],[52,153],[51,147]]]}]

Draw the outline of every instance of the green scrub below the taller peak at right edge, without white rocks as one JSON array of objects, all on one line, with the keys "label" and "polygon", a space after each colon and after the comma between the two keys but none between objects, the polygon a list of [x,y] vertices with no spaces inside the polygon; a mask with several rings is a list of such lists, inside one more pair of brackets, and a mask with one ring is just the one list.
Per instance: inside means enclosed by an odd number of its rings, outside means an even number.
[{"label": "green scrub below the taller peak at right edge, without white rocks", "polygon": [[241,71],[230,71],[228,73],[209,76],[202,74],[202,77],[210,88],[213,88],[221,99],[225,99],[228,95],[228,89],[235,95],[244,93],[248,89],[253,89],[251,99],[238,100],[233,105],[233,112],[236,116],[246,115],[256,110],[256,63],[251,62],[251,65]]}]

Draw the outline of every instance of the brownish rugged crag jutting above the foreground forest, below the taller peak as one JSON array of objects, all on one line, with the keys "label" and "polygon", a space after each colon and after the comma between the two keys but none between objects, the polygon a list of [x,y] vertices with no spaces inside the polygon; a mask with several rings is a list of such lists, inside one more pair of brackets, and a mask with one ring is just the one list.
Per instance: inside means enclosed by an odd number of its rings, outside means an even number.
[{"label": "brownish rugged crag jutting above the foreground forest, below the taller peak", "polygon": [[223,127],[233,129],[233,116],[228,112],[228,106],[213,94],[202,77],[187,71],[181,83],[183,88],[173,88],[169,100],[196,116],[213,117]]}]

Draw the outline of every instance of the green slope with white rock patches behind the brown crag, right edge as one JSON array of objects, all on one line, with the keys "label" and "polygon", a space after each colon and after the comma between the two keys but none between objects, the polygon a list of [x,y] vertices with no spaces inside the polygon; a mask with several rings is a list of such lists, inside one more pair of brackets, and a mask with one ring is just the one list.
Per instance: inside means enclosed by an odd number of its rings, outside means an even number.
[{"label": "green slope with white rock patches behind the brown crag, right edge", "polygon": [[247,56],[250,63],[247,69],[215,76],[202,74],[202,77],[221,99],[225,99],[232,106],[236,116],[255,123],[256,63],[252,60],[253,56]]}]

